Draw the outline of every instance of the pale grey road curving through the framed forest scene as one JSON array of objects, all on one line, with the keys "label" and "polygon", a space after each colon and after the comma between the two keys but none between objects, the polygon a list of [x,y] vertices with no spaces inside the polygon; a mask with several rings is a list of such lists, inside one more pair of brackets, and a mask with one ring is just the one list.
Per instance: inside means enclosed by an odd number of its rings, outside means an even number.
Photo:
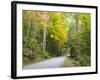
[{"label": "pale grey road curving through the framed forest scene", "polygon": [[51,59],[48,59],[48,60],[45,60],[45,61],[41,61],[41,62],[38,62],[38,63],[34,63],[34,64],[24,66],[23,69],[58,68],[63,64],[65,59],[66,59],[66,56],[51,58]]}]

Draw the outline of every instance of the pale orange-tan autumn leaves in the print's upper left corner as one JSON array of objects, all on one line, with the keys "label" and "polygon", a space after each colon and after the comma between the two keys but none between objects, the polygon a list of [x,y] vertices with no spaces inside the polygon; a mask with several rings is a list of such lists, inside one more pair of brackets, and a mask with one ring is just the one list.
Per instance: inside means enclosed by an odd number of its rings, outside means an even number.
[{"label": "pale orange-tan autumn leaves in the print's upper left corner", "polygon": [[24,20],[25,23],[28,23],[28,21],[31,21],[33,25],[36,27],[43,28],[48,25],[49,23],[49,15],[48,12],[42,12],[42,11],[24,11]]}]

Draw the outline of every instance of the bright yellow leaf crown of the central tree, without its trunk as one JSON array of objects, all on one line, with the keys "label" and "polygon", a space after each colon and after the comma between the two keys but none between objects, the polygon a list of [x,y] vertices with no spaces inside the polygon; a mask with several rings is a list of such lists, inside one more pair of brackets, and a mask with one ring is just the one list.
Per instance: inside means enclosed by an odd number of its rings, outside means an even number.
[{"label": "bright yellow leaf crown of the central tree, without its trunk", "polygon": [[68,39],[68,29],[63,24],[62,15],[60,13],[52,13],[52,23],[52,35],[50,37],[55,39],[58,44],[63,44]]}]

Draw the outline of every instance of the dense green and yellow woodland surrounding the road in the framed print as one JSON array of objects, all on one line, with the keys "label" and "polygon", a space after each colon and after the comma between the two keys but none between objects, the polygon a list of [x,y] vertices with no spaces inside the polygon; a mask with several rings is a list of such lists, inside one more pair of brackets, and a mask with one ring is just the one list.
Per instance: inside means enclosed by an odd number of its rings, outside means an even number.
[{"label": "dense green and yellow woodland surrounding the road in the framed print", "polygon": [[70,54],[91,63],[91,14],[23,10],[23,65]]}]

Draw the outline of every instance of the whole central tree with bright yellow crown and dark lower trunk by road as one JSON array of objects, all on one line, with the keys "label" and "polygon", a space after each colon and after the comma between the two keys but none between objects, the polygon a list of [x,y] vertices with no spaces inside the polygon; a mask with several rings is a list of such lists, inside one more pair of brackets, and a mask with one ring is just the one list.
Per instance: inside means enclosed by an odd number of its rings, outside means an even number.
[{"label": "whole central tree with bright yellow crown and dark lower trunk by road", "polygon": [[51,38],[51,43],[54,43],[55,53],[57,55],[61,55],[61,48],[64,46],[64,43],[67,42],[68,39],[68,28],[64,26],[62,14],[61,13],[53,13],[50,14],[50,27],[49,33]]}]

